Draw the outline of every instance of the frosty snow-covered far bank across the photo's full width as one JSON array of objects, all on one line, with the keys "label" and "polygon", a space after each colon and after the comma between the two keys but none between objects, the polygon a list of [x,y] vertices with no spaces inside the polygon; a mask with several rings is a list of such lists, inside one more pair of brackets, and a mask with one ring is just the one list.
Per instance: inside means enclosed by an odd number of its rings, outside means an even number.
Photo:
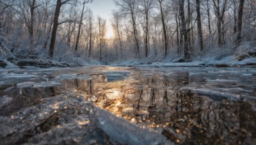
[{"label": "frosty snow-covered far bank across the photo's full width", "polygon": [[[63,57],[61,60],[52,60],[40,56],[31,56],[31,58],[10,62],[7,59],[0,58],[0,68],[19,69],[19,67],[81,67],[81,66],[140,66],[140,67],[239,67],[239,66],[256,66],[255,54],[250,56],[250,52],[255,52],[256,49],[242,49],[243,47],[232,50],[231,48],[215,48],[211,51],[200,52],[191,55],[191,62],[186,62],[182,54],[170,52],[166,58],[159,54],[157,56],[150,55],[147,58],[132,59],[125,57],[118,59],[115,62],[108,62],[108,59],[100,62],[97,58],[81,59],[70,54],[68,57]],[[241,59],[242,58],[242,59]],[[239,60],[241,59],[241,60]],[[6,64],[5,66],[3,64]],[[18,67],[19,66],[19,67]]]}]

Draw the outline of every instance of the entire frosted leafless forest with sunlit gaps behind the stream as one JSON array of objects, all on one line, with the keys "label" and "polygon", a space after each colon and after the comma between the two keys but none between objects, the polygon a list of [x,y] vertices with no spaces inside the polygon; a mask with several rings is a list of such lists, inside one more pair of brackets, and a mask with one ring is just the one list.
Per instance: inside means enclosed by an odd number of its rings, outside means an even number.
[{"label": "entire frosted leafless forest with sunlit gaps behind the stream", "polygon": [[1,0],[0,66],[207,63],[256,55],[255,0],[114,2],[106,20],[93,15],[91,0]]}]

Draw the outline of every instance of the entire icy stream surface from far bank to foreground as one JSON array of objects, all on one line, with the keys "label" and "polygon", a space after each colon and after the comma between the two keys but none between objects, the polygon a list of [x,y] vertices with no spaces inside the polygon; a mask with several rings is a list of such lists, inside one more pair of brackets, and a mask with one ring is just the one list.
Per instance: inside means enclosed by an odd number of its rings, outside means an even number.
[{"label": "entire icy stream surface from far bank to foreground", "polygon": [[0,70],[1,144],[253,144],[255,125],[254,68]]}]

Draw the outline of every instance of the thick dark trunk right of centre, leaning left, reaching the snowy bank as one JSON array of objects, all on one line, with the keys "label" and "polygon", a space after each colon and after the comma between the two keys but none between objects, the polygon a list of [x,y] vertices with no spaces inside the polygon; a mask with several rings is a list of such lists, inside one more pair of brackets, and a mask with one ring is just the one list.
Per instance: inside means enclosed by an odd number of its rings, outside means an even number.
[{"label": "thick dark trunk right of centre, leaning left, reaching the snowy bank", "polygon": [[188,51],[188,32],[186,29],[185,15],[184,15],[184,0],[179,0],[180,8],[180,20],[182,25],[182,35],[184,36],[184,57],[186,61],[190,61],[190,55]]}]

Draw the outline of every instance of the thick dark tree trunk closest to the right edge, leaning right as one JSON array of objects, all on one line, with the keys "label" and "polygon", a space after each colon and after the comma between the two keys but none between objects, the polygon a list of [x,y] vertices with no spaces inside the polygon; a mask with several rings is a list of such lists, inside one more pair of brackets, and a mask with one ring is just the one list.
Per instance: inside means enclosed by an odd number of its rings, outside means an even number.
[{"label": "thick dark tree trunk closest to the right edge, leaning right", "polygon": [[238,8],[238,17],[237,17],[236,46],[239,46],[241,43],[241,31],[242,31],[242,25],[243,25],[243,8],[244,8],[244,0],[240,0],[239,8]]}]

